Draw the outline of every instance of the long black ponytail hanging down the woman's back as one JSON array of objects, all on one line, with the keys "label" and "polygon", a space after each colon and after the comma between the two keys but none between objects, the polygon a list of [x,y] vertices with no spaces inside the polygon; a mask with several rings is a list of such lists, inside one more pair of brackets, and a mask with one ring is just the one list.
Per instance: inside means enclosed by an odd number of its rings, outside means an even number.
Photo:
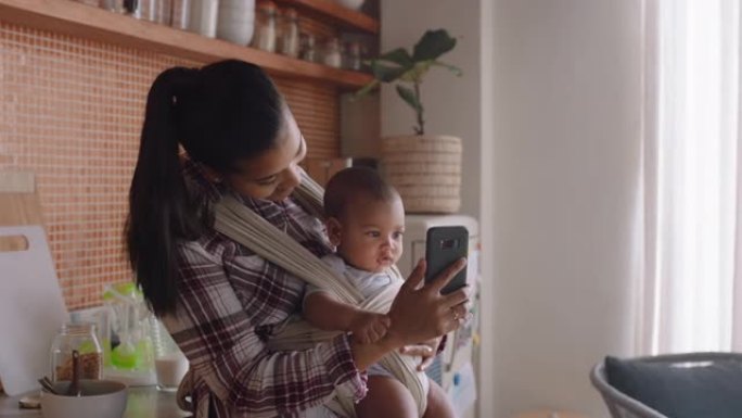
[{"label": "long black ponytail hanging down the woman's back", "polygon": [[129,192],[129,262],[158,316],[174,312],[176,306],[176,245],[181,240],[195,239],[202,229],[182,177],[176,109],[181,105],[180,92],[196,89],[197,80],[197,69],[175,67],[163,72],[153,83]]}]

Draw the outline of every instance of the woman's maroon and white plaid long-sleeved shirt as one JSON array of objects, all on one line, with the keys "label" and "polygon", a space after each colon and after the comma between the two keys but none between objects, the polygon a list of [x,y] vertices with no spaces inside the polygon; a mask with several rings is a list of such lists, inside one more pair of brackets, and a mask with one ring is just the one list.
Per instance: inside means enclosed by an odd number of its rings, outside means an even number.
[{"label": "woman's maroon and white plaid long-sleeved shirt", "polygon": [[[191,190],[220,193],[196,165],[184,173]],[[331,251],[321,223],[293,201],[242,201],[316,255]],[[300,308],[303,280],[214,230],[180,244],[177,262],[178,305],[164,321],[191,364],[196,418],[302,417],[335,390],[366,395],[346,335],[302,352],[266,347],[273,326]]]}]

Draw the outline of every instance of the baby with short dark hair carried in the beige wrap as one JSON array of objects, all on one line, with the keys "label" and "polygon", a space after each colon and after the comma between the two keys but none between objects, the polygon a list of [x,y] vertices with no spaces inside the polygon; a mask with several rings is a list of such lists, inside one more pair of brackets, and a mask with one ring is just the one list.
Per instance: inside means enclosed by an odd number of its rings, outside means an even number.
[{"label": "baby with short dark hair carried in the beige wrap", "polygon": [[[405,207],[399,193],[373,169],[346,168],[328,182],[324,212],[336,253],[323,261],[342,273],[363,297],[373,297],[393,282],[389,269],[402,253]],[[341,303],[314,288],[307,291],[304,317],[324,330],[351,332],[362,343],[381,339],[389,326],[386,315]],[[434,354],[431,350],[430,356]],[[368,375],[369,393],[356,405],[359,418],[420,417],[411,393],[392,373],[376,364],[369,367]],[[430,381],[427,393],[425,418],[456,416],[437,383]]]}]

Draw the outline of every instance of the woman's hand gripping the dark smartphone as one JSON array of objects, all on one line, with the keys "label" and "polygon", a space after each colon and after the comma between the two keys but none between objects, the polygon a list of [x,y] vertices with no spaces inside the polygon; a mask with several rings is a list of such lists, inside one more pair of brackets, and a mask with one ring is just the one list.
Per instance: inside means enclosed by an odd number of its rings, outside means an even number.
[{"label": "woman's hand gripping the dark smartphone", "polygon": [[392,304],[388,313],[392,325],[384,340],[399,349],[440,337],[464,324],[469,299],[466,291],[459,289],[444,295],[440,289],[465,265],[466,259],[461,258],[434,281],[423,286],[426,266],[425,261],[421,259]]}]

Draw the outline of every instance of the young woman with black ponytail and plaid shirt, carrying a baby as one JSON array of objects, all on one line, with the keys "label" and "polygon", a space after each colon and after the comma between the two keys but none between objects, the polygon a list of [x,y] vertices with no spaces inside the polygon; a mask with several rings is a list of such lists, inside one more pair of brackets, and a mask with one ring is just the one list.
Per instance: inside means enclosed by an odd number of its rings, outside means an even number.
[{"label": "young woman with black ponytail and plaid shirt, carrying a baby", "polygon": [[267,349],[273,327],[300,309],[305,282],[216,232],[212,206],[231,194],[327,255],[320,220],[291,198],[306,147],[256,65],[174,67],[152,85],[126,238],[137,281],[189,358],[196,418],[332,417],[323,405],[334,391],[364,396],[369,365],[465,320],[466,293],[439,294],[465,262],[427,286],[421,262],[395,299],[384,339],[360,344],[340,335],[308,351]]}]

